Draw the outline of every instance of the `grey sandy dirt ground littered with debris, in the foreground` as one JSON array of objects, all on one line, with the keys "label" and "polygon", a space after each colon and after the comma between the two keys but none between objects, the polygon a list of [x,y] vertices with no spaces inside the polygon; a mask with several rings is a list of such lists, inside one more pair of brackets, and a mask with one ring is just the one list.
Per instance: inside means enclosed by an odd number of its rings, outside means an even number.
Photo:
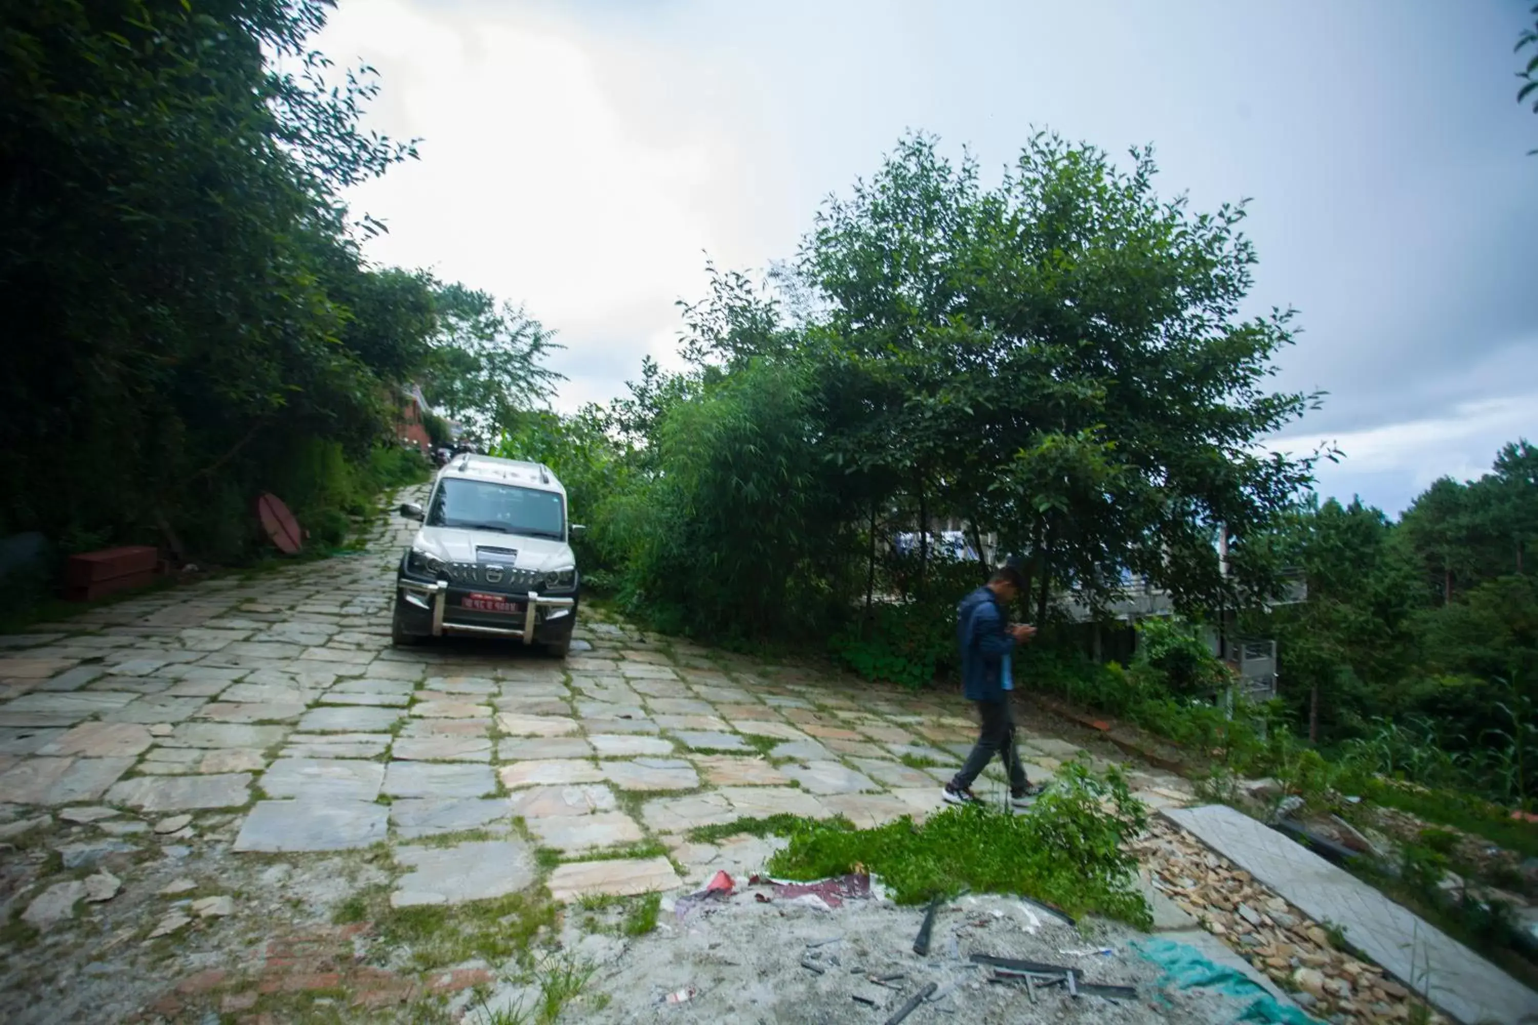
[{"label": "grey sandy dirt ground littered with debris, in the foreground", "polygon": [[[694,907],[683,919],[664,907],[655,931],[628,942],[578,940],[604,964],[580,1002],[569,1008],[571,1020],[886,1022],[929,982],[937,984],[932,999],[906,1022],[1217,1025],[1237,1020],[1243,1008],[1229,997],[1161,988],[1160,970],[1130,947],[1147,939],[1144,934],[1107,922],[1069,925],[1046,908],[1017,899],[963,896],[944,905],[930,953],[920,957],[912,947],[923,908],[871,897],[818,910],[781,899],[763,904],[755,896],[760,893],[767,890],[751,887],[727,901]],[[575,928],[575,917],[568,928]],[[1098,953],[1106,948],[1109,954]],[[972,964],[972,954],[1074,967],[1087,982],[1135,987],[1138,999],[1072,997],[1055,987],[1032,1000],[1020,982],[990,982],[992,970]],[[881,985],[872,976],[900,977]],[[689,999],[667,1000],[680,993]],[[508,1011],[520,999],[528,996],[501,990],[486,1010]],[[466,1020],[483,1025],[495,1019],[472,1010]]]}]

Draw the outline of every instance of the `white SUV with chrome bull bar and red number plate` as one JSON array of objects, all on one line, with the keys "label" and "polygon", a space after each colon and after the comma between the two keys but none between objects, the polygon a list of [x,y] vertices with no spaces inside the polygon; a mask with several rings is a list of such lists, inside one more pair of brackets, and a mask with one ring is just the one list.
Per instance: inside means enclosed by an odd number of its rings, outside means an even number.
[{"label": "white SUV with chrome bull bar and red number plate", "polygon": [[395,578],[395,644],[444,633],[520,638],[564,656],[577,624],[566,489],[541,463],[458,455],[438,470]]}]

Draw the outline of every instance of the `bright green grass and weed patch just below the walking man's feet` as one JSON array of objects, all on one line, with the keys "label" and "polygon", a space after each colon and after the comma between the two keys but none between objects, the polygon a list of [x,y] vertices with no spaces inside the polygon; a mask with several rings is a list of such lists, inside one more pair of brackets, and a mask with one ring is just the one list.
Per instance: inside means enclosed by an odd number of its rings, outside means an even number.
[{"label": "bright green grass and weed patch just below the walking man's feet", "polygon": [[1137,859],[1121,847],[1146,824],[1146,810],[1120,773],[1100,776],[1069,762],[1029,814],[974,805],[949,808],[923,825],[907,818],[875,830],[804,822],[767,868],[780,877],[821,879],[860,865],[878,874],[898,904],[967,887],[1147,928],[1152,917],[1137,887]]}]

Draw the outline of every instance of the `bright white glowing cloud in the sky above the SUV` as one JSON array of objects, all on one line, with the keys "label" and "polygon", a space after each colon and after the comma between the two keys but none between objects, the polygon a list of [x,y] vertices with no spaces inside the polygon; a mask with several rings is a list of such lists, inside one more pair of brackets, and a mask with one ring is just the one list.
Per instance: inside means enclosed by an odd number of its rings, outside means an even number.
[{"label": "bright white glowing cloud in the sky above the SUV", "polygon": [[727,140],[638,131],[601,43],[501,6],[349,3],[317,43],[380,69],[371,124],[423,138],[420,161],[349,197],[389,224],[371,258],[523,303],[568,346],[557,369],[592,378],[566,407],[672,353],[674,303],[721,247],[697,195],[734,160]]}]

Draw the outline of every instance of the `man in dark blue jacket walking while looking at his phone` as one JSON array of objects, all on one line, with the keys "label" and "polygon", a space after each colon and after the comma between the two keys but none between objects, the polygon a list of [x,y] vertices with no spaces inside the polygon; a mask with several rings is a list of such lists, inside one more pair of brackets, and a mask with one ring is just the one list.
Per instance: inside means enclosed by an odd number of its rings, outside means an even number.
[{"label": "man in dark blue jacket walking while looking at his phone", "polygon": [[983,804],[972,793],[972,781],[997,753],[1009,771],[1009,804],[1027,808],[1043,787],[1026,779],[1015,750],[1015,716],[1009,705],[1010,655],[1017,644],[1029,641],[1037,629],[1026,624],[1006,625],[1004,610],[1020,593],[1024,581],[1012,564],[1000,567],[990,581],[961,599],[957,605],[957,641],[961,647],[961,681],[967,701],[977,704],[983,728],[961,771],[946,784],[947,804]]}]

